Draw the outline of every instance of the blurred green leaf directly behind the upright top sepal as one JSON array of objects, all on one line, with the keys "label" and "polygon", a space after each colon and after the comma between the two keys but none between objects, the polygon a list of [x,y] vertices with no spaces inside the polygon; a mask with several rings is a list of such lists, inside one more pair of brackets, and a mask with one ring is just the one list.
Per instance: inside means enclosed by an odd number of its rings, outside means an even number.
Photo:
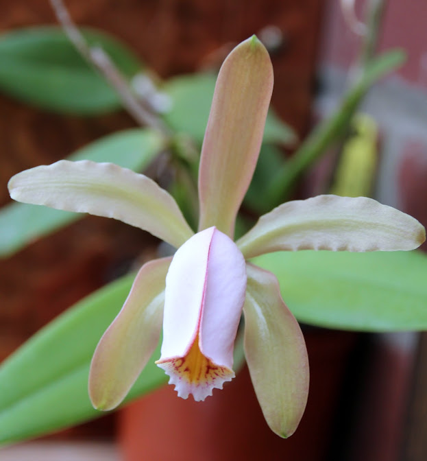
[{"label": "blurred green leaf directly behind the upright top sepal", "polygon": [[[200,145],[208,123],[216,81],[215,74],[197,73],[180,75],[162,86],[162,91],[172,101],[171,110],[163,114],[164,120],[173,130],[190,134]],[[264,142],[288,145],[295,142],[295,139],[295,132],[270,110],[265,124]]]}]

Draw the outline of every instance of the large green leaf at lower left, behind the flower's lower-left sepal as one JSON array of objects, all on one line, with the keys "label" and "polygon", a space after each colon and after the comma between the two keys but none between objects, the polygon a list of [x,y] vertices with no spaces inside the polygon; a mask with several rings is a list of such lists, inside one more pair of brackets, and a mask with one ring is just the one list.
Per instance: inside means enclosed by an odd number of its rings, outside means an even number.
[{"label": "large green leaf at lower left, behind the flower's lower-left sepal", "polygon": [[[0,367],[0,443],[46,434],[101,416],[88,397],[97,342],[117,315],[134,274],[99,289],[53,320]],[[154,357],[160,357],[160,349]],[[167,381],[150,361],[127,401]]]}]

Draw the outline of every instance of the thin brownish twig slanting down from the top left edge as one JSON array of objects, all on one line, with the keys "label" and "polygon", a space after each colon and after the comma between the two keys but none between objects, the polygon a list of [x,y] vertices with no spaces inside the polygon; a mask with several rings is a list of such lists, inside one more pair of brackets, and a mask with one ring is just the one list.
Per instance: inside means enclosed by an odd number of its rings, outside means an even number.
[{"label": "thin brownish twig slanting down from the top left edge", "polygon": [[[171,132],[154,113],[140,104],[134,96],[125,76],[114,65],[110,56],[106,54],[101,47],[90,47],[77,28],[62,0],[50,0],[53,11],[56,14],[58,22],[64,29],[66,36],[77,51],[92,64],[101,75],[108,81],[119,95],[123,107],[127,110],[135,121],[141,126],[149,126],[160,132],[164,137],[169,138]],[[149,104],[147,104],[149,105]]]}]

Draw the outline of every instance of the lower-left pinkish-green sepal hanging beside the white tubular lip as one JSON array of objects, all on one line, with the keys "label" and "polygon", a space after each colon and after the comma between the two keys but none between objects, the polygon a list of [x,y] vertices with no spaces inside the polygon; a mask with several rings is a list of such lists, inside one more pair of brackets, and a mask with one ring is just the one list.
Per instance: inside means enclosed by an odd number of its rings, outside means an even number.
[{"label": "lower-left pinkish-green sepal hanging beside the white tubular lip", "polygon": [[164,279],[171,260],[155,259],[143,265],[119,315],[99,340],[88,386],[98,410],[112,410],[123,401],[158,344]]}]

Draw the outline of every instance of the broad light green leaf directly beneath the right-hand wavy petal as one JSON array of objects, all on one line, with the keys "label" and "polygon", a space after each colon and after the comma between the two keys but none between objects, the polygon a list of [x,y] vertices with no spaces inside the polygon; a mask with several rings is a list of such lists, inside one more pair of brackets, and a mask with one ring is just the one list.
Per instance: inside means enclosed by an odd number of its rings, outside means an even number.
[{"label": "broad light green leaf directly beneath the right-hand wavy petal", "polygon": [[254,263],[278,276],[300,322],[358,331],[427,329],[422,252],[278,252]]}]

